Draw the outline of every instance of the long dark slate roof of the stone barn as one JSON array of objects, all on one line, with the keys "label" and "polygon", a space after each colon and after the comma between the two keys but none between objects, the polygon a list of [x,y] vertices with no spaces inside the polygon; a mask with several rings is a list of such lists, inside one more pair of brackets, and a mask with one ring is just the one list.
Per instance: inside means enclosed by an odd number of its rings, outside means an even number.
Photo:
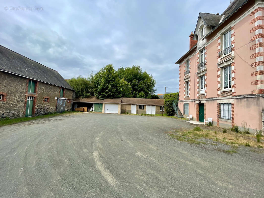
[{"label": "long dark slate roof of the stone barn", "polygon": [[0,45],[0,71],[74,90],[60,74]]}]

